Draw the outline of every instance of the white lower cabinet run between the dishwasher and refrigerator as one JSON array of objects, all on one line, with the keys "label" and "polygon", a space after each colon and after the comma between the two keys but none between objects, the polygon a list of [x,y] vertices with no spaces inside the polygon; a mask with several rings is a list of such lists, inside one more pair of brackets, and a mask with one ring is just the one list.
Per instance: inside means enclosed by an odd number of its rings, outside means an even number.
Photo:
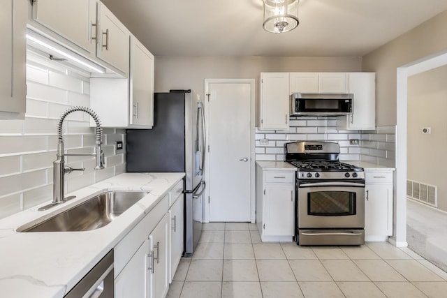
[{"label": "white lower cabinet run between the dishwasher and refrigerator", "polygon": [[[178,193],[177,188],[170,192]],[[115,297],[166,297],[183,253],[183,197],[177,196],[170,208],[169,197],[161,199],[115,246]],[[171,223],[173,216],[176,225]]]}]

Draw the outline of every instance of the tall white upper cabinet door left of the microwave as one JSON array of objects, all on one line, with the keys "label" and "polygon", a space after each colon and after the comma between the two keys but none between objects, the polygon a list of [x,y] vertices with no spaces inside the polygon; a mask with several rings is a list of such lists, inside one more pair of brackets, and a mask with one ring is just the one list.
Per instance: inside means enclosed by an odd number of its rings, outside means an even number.
[{"label": "tall white upper cabinet door left of the microwave", "polygon": [[289,116],[288,73],[261,73],[260,129],[287,129]]}]

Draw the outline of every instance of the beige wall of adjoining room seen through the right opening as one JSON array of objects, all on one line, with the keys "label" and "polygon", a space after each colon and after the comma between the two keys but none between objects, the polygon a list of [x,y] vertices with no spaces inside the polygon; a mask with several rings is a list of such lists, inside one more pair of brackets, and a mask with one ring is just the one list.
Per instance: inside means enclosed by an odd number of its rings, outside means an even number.
[{"label": "beige wall of adjoining room seen through the right opening", "polygon": [[[438,207],[447,211],[447,66],[408,79],[407,178],[438,186]],[[423,127],[432,133],[424,135]]]}]

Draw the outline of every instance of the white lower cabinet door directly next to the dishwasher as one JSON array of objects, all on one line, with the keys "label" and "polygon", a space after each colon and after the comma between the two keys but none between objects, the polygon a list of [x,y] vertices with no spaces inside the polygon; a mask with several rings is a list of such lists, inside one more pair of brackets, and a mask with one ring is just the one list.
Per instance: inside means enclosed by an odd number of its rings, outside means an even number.
[{"label": "white lower cabinet door directly next to the dishwasher", "polygon": [[149,298],[152,274],[149,260],[149,239],[145,240],[126,267],[115,278],[115,297]]}]

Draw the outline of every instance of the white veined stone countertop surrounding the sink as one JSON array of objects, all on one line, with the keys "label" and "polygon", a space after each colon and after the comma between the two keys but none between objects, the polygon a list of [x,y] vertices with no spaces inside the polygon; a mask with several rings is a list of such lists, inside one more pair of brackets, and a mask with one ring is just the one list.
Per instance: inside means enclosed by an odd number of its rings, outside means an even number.
[{"label": "white veined stone countertop surrounding the sink", "polygon": [[[1,297],[64,297],[103,256],[184,177],[184,173],[124,173],[68,193],[77,198],[47,211],[34,208],[0,220]],[[85,232],[17,232],[102,191],[151,191],[103,228]]]}]

